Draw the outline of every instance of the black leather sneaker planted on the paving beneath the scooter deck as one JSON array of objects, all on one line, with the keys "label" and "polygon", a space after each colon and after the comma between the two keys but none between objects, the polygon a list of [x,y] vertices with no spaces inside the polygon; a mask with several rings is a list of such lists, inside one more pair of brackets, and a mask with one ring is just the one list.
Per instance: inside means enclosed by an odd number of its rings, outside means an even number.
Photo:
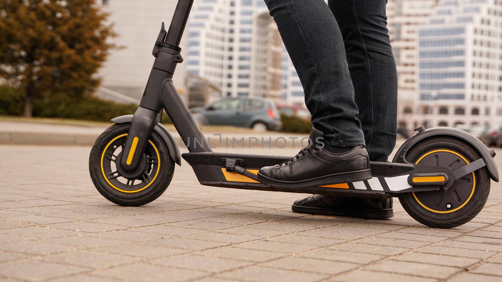
[{"label": "black leather sneaker planted on the paving beneath the scooter deck", "polygon": [[296,200],[291,209],[298,213],[337,215],[365,219],[394,216],[391,199],[312,195]]}]

